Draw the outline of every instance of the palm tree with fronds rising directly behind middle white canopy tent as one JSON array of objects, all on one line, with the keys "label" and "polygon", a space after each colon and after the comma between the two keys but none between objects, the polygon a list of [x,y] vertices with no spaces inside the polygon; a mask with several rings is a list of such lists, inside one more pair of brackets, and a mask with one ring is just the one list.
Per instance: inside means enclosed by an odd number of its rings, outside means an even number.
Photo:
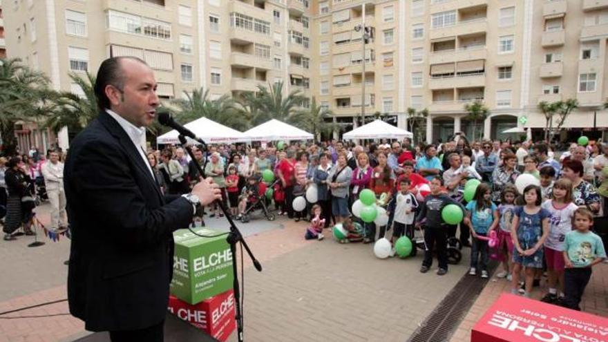
[{"label": "palm tree with fronds rising directly behind middle white canopy tent", "polygon": [[292,91],[284,97],[283,82],[269,84],[268,88],[258,84],[258,94],[254,97],[254,103],[251,104],[258,108],[256,116],[253,117],[254,125],[262,124],[270,119],[289,121],[305,99],[306,97],[301,95],[301,91]]}]

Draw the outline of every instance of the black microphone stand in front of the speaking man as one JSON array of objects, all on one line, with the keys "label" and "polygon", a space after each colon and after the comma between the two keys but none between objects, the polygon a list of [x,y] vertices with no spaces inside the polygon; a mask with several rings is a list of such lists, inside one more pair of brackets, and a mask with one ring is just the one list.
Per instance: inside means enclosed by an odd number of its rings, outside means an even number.
[{"label": "black microphone stand in front of the speaking man", "polygon": [[[180,135],[178,135],[178,139],[180,140],[180,142],[182,143],[182,146],[184,146],[186,151],[188,151],[190,158],[192,158],[192,160],[194,160],[194,165],[196,166],[196,169],[198,170],[199,174],[203,178],[205,178],[205,171],[204,171],[204,169],[202,169],[200,167],[198,162],[196,162],[196,158],[194,157],[194,153],[192,152],[191,147],[186,143],[186,137],[184,137],[184,135],[180,134]],[[207,151],[207,144],[205,144],[205,142],[203,142],[202,140],[198,140],[198,142],[200,142],[202,144],[202,150]],[[205,166],[206,165],[207,165],[207,157],[205,157]],[[249,258],[251,258],[251,261],[254,263],[254,267],[256,267],[258,272],[262,272],[262,265],[254,257],[254,254],[251,253],[251,249],[249,249],[249,246],[245,242],[245,239],[243,239],[243,235],[240,234],[240,231],[234,224],[234,221],[232,220],[225,203],[222,200],[219,200],[217,203],[220,206],[220,209],[222,209],[222,212],[224,213],[224,216],[228,220],[228,223],[230,224],[230,232],[228,233],[228,237],[226,238],[226,240],[228,241],[228,244],[230,245],[230,252],[232,254],[232,272],[234,273],[234,282],[232,284],[232,287],[234,289],[234,301],[236,302],[236,315],[235,315],[234,319],[236,319],[236,331],[238,334],[237,335],[238,342],[243,342],[243,312],[241,312],[240,285],[238,284],[238,273],[237,273],[238,269],[236,267],[236,244],[240,243],[241,246],[245,247],[247,254],[249,254]],[[243,258],[243,255],[241,254],[240,257]]]}]

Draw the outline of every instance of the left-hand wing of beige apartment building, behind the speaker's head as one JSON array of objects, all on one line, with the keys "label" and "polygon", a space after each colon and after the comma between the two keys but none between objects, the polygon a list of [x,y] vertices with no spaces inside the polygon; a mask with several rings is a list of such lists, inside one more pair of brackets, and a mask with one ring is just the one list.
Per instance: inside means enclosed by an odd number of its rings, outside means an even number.
[{"label": "left-hand wing of beige apartment building, behind the speaker's head", "polygon": [[[107,57],[144,59],[162,99],[203,87],[211,99],[284,82],[310,97],[308,0],[14,0],[5,6],[8,57],[81,93],[70,73]],[[64,132],[65,133],[65,132]],[[67,146],[67,135],[59,137]]]}]

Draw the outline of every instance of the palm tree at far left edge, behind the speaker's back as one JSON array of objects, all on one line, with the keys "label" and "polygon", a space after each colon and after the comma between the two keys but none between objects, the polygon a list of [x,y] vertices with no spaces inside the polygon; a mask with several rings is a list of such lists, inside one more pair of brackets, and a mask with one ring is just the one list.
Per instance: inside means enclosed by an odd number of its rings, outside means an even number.
[{"label": "palm tree at far left edge, behind the speaker's back", "polygon": [[15,123],[36,121],[46,111],[53,93],[48,77],[21,63],[21,59],[0,60],[0,136],[3,153],[12,155],[17,147]]}]

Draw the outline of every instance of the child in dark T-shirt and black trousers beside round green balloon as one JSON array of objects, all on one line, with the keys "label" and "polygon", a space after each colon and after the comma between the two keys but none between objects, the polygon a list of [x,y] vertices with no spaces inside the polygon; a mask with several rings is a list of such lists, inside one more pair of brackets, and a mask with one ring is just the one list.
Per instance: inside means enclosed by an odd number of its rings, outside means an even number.
[{"label": "child in dark T-shirt and black trousers beside round green balloon", "polygon": [[421,220],[426,219],[424,229],[424,241],[426,243],[427,250],[424,252],[424,261],[420,267],[421,273],[426,273],[433,265],[433,251],[437,251],[437,262],[439,263],[439,269],[437,269],[437,275],[443,276],[448,273],[448,255],[447,239],[448,239],[448,227],[445,225],[441,218],[441,209],[444,209],[446,205],[455,204],[462,208],[462,205],[450,198],[450,196],[442,193],[444,187],[444,178],[437,175],[430,181],[430,194],[424,198],[424,202],[421,205],[421,209],[416,216],[416,225],[421,225]]}]

